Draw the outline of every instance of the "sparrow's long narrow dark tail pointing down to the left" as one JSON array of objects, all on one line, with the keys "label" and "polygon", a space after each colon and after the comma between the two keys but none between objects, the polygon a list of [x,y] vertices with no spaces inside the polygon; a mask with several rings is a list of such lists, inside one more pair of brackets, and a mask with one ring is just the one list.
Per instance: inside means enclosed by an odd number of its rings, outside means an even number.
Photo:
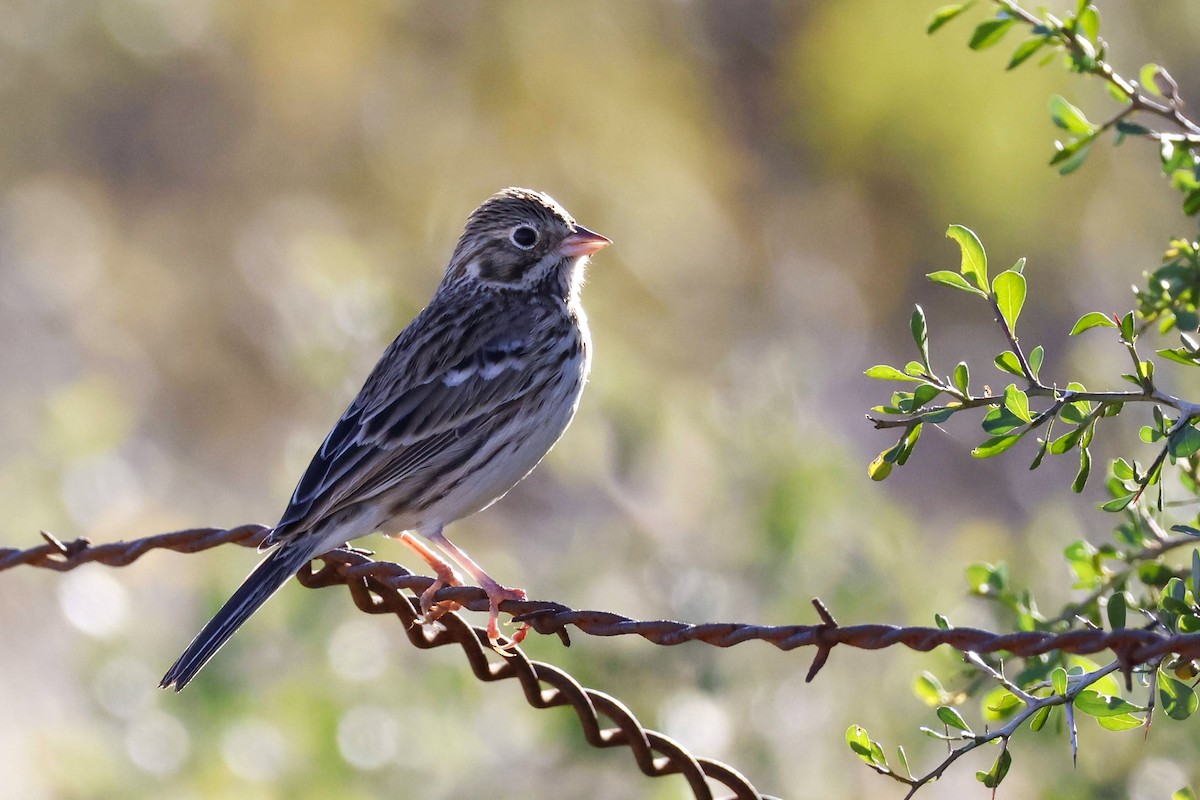
[{"label": "sparrow's long narrow dark tail pointing down to the left", "polygon": [[196,676],[209,658],[221,649],[230,636],[250,619],[258,608],[280,590],[288,578],[311,560],[316,553],[308,546],[284,543],[254,567],[246,582],[233,593],[216,616],[196,634],[184,655],[163,675],[160,688],[182,690]]}]

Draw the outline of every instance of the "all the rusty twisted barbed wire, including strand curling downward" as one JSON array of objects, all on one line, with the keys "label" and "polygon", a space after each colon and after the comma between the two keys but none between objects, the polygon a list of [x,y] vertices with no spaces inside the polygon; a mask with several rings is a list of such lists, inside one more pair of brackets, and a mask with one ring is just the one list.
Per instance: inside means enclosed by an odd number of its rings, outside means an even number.
[{"label": "all the rusty twisted barbed wire, including strand curling downward", "polygon": [[[64,542],[43,531],[46,543],[37,547],[24,551],[0,548],[0,571],[22,565],[60,572],[89,563],[126,566],[152,549],[194,553],[224,543],[257,547],[268,531],[269,528],[264,525],[240,525],[229,529],[196,528],[96,546],[85,539]],[[322,563],[319,569],[314,570],[310,564],[298,573],[296,577],[302,585],[312,589],[344,585],[360,610],[371,614],[396,614],[403,624],[409,642],[415,646],[430,649],[458,644],[480,680],[517,679],[527,702],[534,708],[570,705],[580,718],[588,744],[594,747],[629,747],[643,774],[655,777],[679,774],[688,781],[694,795],[702,800],[713,796],[707,780],[724,784],[738,800],[767,798],[732,766],[691,756],[672,739],[642,727],[618,699],[583,687],[562,669],[532,661],[520,649],[511,650],[511,657],[496,662],[490,656],[492,649],[486,631],[468,625],[457,614],[446,614],[437,625],[419,625],[418,607],[402,591],[412,591],[419,596],[432,584],[433,578],[414,575],[400,564],[372,559],[368,551],[350,547],[330,551],[318,557],[317,561]],[[444,588],[438,591],[436,600],[454,601],[472,610],[488,608],[486,595],[475,587]],[[973,627],[943,630],[881,624],[841,626],[820,600],[814,600],[812,604],[821,619],[817,625],[636,620],[612,612],[576,610],[560,603],[535,600],[506,601],[500,608],[512,614],[515,620],[528,622],[540,633],[559,636],[564,644],[570,644],[568,628],[574,627],[590,636],[641,636],[660,645],[702,642],[728,648],[757,640],[780,650],[815,646],[817,651],[806,678],[810,681],[824,666],[833,648],[839,644],[863,650],[880,650],[899,644],[923,652],[947,645],[961,652],[1004,651],[1020,657],[1038,656],[1052,650],[1076,655],[1110,650],[1116,655],[1127,681],[1134,667],[1154,663],[1170,654],[1200,658],[1200,633],[1169,634],[1134,628],[1117,631],[1082,628],[1063,633],[1046,631],[995,633]],[[551,690],[545,691],[544,685],[548,685]],[[601,716],[611,720],[616,727],[602,728]]]}]

